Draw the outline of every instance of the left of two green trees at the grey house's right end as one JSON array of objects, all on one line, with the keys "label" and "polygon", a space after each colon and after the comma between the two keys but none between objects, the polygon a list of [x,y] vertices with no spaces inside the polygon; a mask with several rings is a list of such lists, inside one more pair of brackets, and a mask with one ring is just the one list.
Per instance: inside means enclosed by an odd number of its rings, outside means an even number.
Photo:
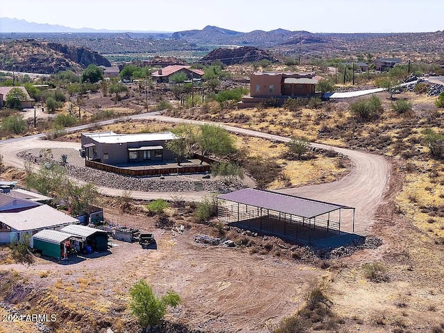
[{"label": "left of two green trees at the grey house's right end", "polygon": [[178,136],[167,142],[167,148],[177,155],[178,166],[191,155],[197,144],[196,128],[190,123],[182,123],[171,132]]}]

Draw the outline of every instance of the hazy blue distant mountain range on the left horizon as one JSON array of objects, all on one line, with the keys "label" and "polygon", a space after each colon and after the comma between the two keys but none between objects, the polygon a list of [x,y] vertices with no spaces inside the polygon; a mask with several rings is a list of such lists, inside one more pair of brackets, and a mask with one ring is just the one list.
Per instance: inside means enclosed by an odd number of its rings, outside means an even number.
[{"label": "hazy blue distant mountain range on the left horizon", "polygon": [[167,31],[123,31],[107,30],[94,28],[69,28],[58,24],[41,24],[28,22],[24,19],[11,19],[9,17],[0,17],[0,33],[165,33]]}]

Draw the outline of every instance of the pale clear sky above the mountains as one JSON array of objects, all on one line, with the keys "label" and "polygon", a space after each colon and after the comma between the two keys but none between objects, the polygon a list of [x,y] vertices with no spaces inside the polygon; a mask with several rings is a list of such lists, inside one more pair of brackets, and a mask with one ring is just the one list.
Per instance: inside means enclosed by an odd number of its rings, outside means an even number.
[{"label": "pale clear sky above the mountains", "polygon": [[444,0],[1,0],[0,17],[71,28],[311,33],[444,31]]}]

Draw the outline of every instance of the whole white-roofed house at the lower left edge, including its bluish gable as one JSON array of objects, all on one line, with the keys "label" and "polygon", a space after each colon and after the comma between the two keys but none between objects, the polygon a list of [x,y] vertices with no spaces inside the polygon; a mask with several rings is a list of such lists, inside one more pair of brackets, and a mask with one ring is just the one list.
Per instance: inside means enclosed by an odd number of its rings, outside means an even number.
[{"label": "whole white-roofed house at the lower left edge, including its bluish gable", "polygon": [[0,203],[3,203],[0,204],[0,234],[15,234],[17,239],[21,239],[25,233],[33,235],[44,229],[55,230],[79,223],[78,219],[49,205],[13,197],[8,200],[5,196],[8,195],[0,194]]}]

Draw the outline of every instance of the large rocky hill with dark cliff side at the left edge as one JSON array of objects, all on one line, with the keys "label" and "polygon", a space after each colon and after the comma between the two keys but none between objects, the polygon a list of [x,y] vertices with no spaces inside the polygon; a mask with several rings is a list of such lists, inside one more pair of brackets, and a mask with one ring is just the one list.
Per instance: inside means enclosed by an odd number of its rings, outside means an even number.
[{"label": "large rocky hill with dark cliff side at the left edge", "polygon": [[0,69],[53,74],[70,69],[82,71],[90,64],[111,66],[99,53],[54,42],[15,40],[0,44]]}]

